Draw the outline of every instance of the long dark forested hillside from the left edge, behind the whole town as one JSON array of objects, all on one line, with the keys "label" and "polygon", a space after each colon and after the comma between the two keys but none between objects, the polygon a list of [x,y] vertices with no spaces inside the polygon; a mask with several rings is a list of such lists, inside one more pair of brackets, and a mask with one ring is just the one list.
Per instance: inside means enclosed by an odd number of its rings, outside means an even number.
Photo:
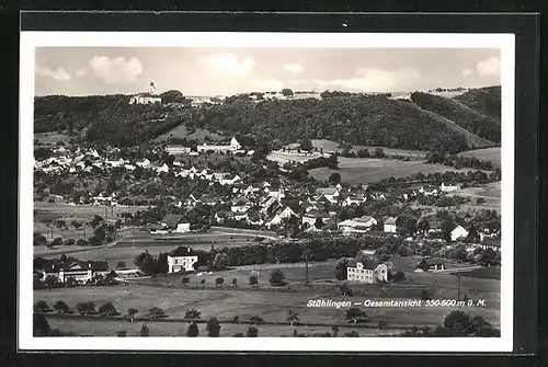
[{"label": "long dark forested hillside from the left edge, behind the whole town", "polygon": [[343,95],[323,100],[262,101],[231,98],[199,108],[129,105],[128,96],[35,100],[35,131],[85,128],[87,139],[136,145],[185,124],[227,135],[253,135],[287,144],[302,138],[352,145],[458,152],[471,148],[458,130],[411,102],[384,95]]}]

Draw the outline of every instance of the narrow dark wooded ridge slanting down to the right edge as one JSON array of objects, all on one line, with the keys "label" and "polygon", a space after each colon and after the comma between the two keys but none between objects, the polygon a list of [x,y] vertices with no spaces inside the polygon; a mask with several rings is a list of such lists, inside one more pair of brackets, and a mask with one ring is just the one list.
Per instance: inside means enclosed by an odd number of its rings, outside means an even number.
[{"label": "narrow dark wooded ridge slanting down to the right edge", "polygon": [[413,92],[411,101],[423,110],[434,112],[450,119],[458,126],[483,139],[500,144],[501,124],[454,99],[439,95]]}]

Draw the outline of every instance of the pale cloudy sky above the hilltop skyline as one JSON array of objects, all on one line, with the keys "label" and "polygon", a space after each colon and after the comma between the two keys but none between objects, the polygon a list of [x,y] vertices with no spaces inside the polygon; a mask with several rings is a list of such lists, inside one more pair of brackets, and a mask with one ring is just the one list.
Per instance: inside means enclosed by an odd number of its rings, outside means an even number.
[{"label": "pale cloudy sky above the hilltop skyline", "polygon": [[501,83],[498,48],[38,47],[35,95],[412,92]]}]

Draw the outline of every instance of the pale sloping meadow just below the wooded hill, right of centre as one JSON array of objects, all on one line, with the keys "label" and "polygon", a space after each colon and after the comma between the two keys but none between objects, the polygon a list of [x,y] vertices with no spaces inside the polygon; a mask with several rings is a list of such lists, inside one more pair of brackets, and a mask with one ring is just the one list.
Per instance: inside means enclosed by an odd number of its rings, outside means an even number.
[{"label": "pale sloping meadow just below the wooded hill, right of centre", "polygon": [[[309,174],[318,181],[327,181],[331,173],[341,174],[342,182],[368,184],[378,182],[383,179],[393,176],[407,177],[413,173],[422,172],[424,174],[435,172],[456,171],[446,165],[427,164],[418,161],[401,161],[390,159],[361,159],[339,157],[339,170],[319,168],[309,171]],[[468,172],[469,170],[459,170]]]}]

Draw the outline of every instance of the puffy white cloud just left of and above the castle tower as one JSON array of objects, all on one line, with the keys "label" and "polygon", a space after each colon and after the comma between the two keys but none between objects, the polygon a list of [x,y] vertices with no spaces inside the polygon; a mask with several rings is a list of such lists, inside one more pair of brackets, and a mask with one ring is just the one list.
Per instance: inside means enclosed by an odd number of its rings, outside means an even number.
[{"label": "puffy white cloud just left of and above the castle tower", "polygon": [[95,55],[88,64],[93,73],[107,84],[134,82],[142,72],[142,65],[137,58],[109,58]]}]

